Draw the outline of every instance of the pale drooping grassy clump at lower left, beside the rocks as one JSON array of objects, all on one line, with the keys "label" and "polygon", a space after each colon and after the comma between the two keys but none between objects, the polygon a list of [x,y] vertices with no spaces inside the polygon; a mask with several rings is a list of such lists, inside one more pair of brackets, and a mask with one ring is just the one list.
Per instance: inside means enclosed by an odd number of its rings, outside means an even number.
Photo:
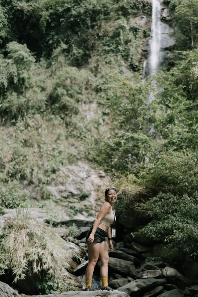
[{"label": "pale drooping grassy clump at lower left, beside the rocks", "polygon": [[[69,268],[71,251],[52,228],[29,217],[28,209],[20,206],[2,231],[0,274],[9,271],[14,283],[26,277],[42,282],[41,293],[61,292],[64,285],[72,288],[69,277],[62,279],[63,269]],[[53,285],[49,278],[54,280]]]}]

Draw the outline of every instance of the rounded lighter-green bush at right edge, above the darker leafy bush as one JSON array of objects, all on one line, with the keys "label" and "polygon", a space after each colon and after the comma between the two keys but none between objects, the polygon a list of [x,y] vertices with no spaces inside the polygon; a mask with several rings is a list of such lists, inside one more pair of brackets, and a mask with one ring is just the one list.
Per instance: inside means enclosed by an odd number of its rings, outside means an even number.
[{"label": "rounded lighter-green bush at right edge, above the darker leafy bush", "polygon": [[163,191],[195,198],[198,191],[197,152],[161,154],[149,160],[140,177],[154,194]]}]

